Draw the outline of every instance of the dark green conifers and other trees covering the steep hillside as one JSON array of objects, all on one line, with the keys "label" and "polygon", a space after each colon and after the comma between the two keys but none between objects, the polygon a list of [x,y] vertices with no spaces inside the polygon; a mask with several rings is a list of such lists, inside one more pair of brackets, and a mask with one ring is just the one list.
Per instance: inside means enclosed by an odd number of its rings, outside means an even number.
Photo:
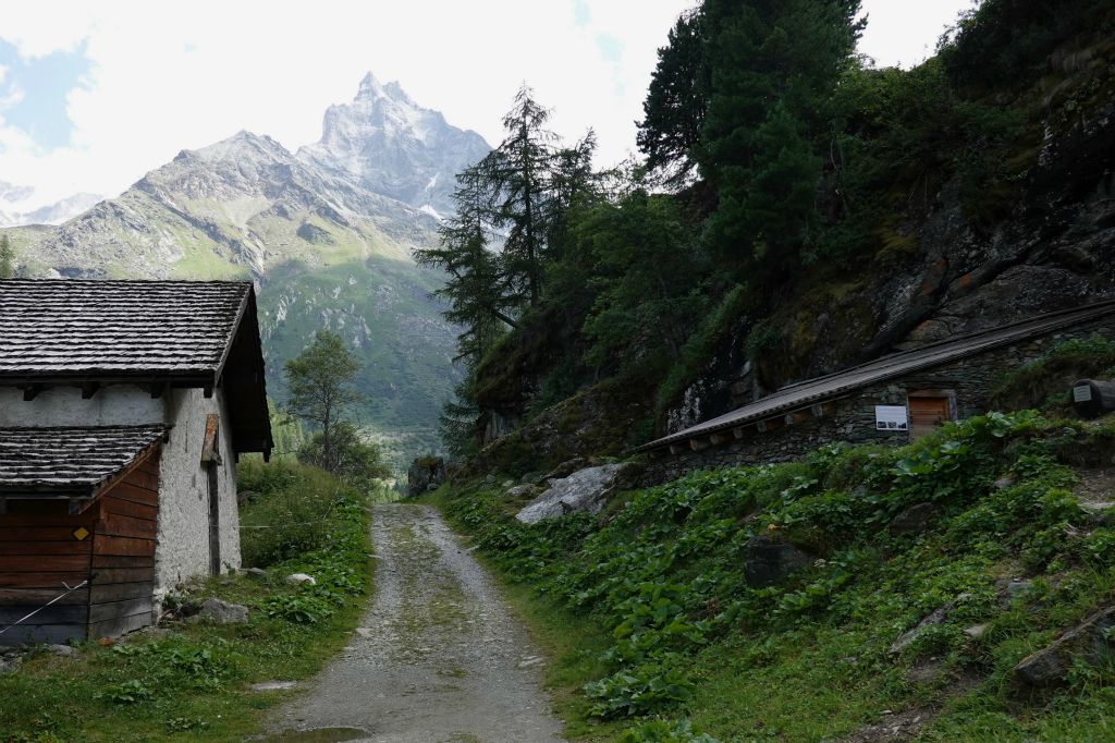
[{"label": "dark green conifers and other trees covering the steep hillside", "polygon": [[417,255],[448,272],[464,328],[453,453],[585,389],[633,406],[624,435],[644,441],[741,328],[757,390],[878,355],[894,338],[871,312],[820,364],[793,313],[924,260],[918,225],[943,200],[993,231],[1043,143],[1113,93],[1104,0],[986,0],[909,70],[857,55],[863,27],[859,0],[705,0],[659,49],[642,156],[607,171],[591,131],[559,141],[518,91],[504,141],[459,174],[440,245]]}]

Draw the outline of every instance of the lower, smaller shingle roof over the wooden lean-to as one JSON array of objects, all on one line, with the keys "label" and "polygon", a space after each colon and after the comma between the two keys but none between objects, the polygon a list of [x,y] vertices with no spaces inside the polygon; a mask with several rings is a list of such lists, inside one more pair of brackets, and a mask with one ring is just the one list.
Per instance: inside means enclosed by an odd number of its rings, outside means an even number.
[{"label": "lower, smaller shingle roof over the wooden lean-to", "polygon": [[166,431],[163,425],[0,427],[0,495],[94,498]]}]

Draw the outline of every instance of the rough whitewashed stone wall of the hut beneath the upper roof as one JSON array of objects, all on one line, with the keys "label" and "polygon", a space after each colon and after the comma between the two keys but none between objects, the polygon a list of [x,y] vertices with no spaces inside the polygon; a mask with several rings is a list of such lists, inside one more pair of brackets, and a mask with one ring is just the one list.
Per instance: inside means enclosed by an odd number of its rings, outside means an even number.
[{"label": "rough whitewashed stone wall of the hut beneath the upper roof", "polygon": [[240,567],[235,464],[231,418],[224,393],[206,399],[201,389],[174,389],[152,399],[143,387],[110,385],[81,399],[77,387],[51,387],[25,402],[23,393],[0,387],[0,426],[107,426],[169,423],[171,441],[159,460],[158,547],[155,553],[155,594],[162,597],[180,582],[210,572],[209,475],[202,466],[205,416],[221,416],[221,459],[217,488],[221,499],[222,569]]}]

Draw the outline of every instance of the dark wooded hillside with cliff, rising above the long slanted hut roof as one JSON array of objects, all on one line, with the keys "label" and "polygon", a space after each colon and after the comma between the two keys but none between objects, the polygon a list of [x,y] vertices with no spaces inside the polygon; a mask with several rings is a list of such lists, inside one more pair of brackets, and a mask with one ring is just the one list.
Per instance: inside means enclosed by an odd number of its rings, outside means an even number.
[{"label": "dark wooded hillside with cliff, rising above the long slanted hut roof", "polygon": [[857,6],[679,18],[640,123],[651,177],[554,199],[547,284],[459,390],[460,452],[518,430],[497,447],[525,456],[569,430],[562,456],[614,454],[796,379],[1115,296],[1109,3],[987,0],[911,70],[854,56]]}]

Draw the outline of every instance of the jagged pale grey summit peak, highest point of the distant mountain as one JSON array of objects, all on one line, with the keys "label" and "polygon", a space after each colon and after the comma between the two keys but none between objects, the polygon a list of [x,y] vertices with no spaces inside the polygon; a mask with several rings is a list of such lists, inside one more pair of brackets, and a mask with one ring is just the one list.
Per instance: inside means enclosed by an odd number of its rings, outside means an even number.
[{"label": "jagged pale grey summit peak, highest point of the distant mountain", "polygon": [[423,108],[398,83],[368,75],[350,104],[326,110],[321,139],[298,151],[302,162],[439,215],[453,211],[455,175],[491,147],[473,131]]}]

